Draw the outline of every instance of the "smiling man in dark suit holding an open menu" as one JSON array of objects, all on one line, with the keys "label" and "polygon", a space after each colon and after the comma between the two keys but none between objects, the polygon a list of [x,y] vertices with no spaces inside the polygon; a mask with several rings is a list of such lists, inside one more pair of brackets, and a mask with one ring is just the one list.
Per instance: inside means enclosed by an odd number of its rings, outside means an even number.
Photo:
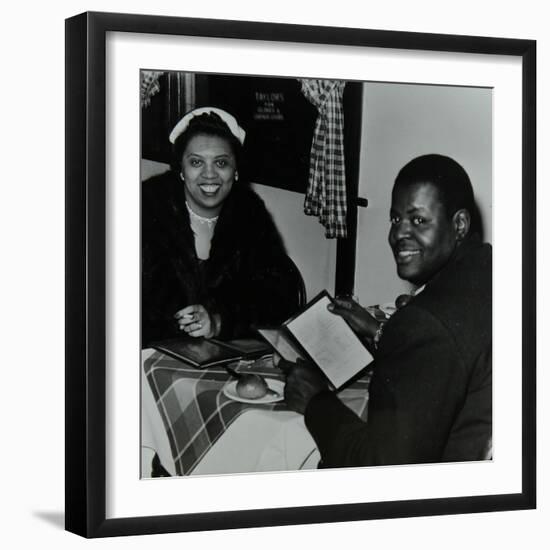
[{"label": "smiling man in dark suit holding an open menu", "polygon": [[367,422],[311,366],[286,365],[287,403],[304,414],[322,466],[490,456],[492,252],[475,212],[470,179],[449,157],[399,172],[388,240],[398,275],[418,290],[383,325],[353,301],[332,308],[373,350]]}]

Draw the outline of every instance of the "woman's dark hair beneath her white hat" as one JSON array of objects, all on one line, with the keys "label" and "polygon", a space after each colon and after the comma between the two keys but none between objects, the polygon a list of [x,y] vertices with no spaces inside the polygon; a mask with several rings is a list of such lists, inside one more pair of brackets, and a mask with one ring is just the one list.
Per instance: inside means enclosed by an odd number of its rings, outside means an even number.
[{"label": "woman's dark hair beneath her white hat", "polygon": [[240,164],[242,145],[231,133],[227,124],[216,113],[203,113],[194,116],[189,126],[177,137],[172,148],[172,170],[181,171],[181,159],[189,141],[198,135],[217,136],[225,139],[235,155],[237,166]]}]

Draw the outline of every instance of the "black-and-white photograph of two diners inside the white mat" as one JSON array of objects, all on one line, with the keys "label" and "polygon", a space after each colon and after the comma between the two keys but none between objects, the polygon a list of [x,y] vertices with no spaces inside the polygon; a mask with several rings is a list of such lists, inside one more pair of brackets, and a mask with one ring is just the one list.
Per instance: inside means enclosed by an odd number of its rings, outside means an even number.
[{"label": "black-and-white photograph of two diners inside the white mat", "polygon": [[498,456],[493,90],[143,68],[139,96],[142,479]]}]

